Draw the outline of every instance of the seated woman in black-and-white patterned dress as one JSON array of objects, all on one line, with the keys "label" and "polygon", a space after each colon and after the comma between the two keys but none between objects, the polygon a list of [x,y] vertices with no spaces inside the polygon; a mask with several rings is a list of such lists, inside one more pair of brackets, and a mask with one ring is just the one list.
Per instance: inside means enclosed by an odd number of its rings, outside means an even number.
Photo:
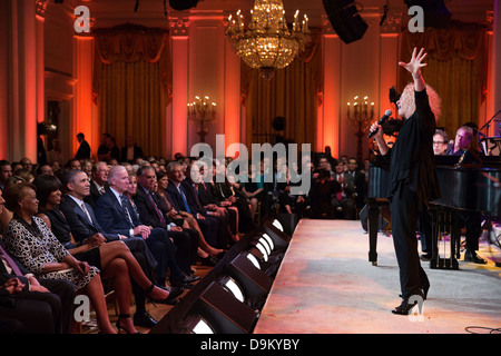
[{"label": "seated woman in black-and-white patterned dress", "polygon": [[57,240],[38,212],[33,186],[21,182],[4,191],[6,207],[13,218],[4,235],[7,250],[39,278],[68,279],[77,293],[85,293],[104,334],[116,334],[108,317],[99,269],[71,256]]}]

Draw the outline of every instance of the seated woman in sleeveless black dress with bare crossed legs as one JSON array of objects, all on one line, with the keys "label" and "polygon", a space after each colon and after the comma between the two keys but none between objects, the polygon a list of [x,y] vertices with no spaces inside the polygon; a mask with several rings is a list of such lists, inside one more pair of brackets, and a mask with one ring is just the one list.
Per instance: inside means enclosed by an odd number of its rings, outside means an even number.
[{"label": "seated woman in sleeveless black dress with bare crossed legs", "polygon": [[[78,171],[78,174],[70,172],[78,178],[85,179],[85,172]],[[87,182],[88,185],[88,182]],[[35,186],[37,187],[37,197],[40,201],[40,212],[39,217],[42,218],[49,228],[55,234],[56,238],[79,260],[85,260],[91,266],[96,266],[101,270],[104,278],[112,280],[115,290],[117,294],[117,300],[120,309],[119,320],[117,326],[124,328],[127,333],[136,333],[130,322],[129,305],[130,305],[130,280],[132,285],[137,286],[135,288],[136,301],[143,301],[143,305],[138,305],[139,313],[144,312],[144,290],[147,294],[154,296],[160,296],[160,298],[168,303],[171,300],[168,298],[167,293],[154,287],[150,278],[146,276],[141,266],[135,258],[131,250],[126,244],[119,240],[107,243],[102,234],[97,233],[89,236],[82,244],[77,244],[71,234],[71,227],[66,219],[66,215],[59,210],[58,206],[61,201],[61,184],[58,178],[49,176],[39,176],[35,179]],[[72,184],[69,184],[70,188],[73,188]],[[71,197],[67,199],[73,200]],[[73,200],[75,202],[77,200]],[[78,209],[82,211],[82,215],[91,218],[89,210],[84,211],[84,207],[80,201]],[[70,215],[75,214],[75,210],[70,211]],[[75,221],[75,220],[73,220]],[[164,297],[166,296],[166,297]],[[173,299],[174,300],[174,299]],[[138,310],[136,310],[136,314]],[[136,319],[136,318],[135,318]]]}]

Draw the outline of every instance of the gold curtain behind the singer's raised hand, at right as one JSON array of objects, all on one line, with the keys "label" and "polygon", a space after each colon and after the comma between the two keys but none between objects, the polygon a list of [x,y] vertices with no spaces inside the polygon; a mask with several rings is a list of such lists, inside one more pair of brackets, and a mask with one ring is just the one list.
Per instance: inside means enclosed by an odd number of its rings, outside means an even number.
[{"label": "gold curtain behind the singer's raised hand, at right", "polygon": [[[424,33],[402,33],[403,60],[411,58],[414,47],[428,52],[423,77],[442,99],[438,126],[443,127],[451,139],[463,123],[479,123],[479,108],[487,88],[485,37],[483,27],[461,23]],[[410,79],[409,72],[401,68],[399,91]]]}]

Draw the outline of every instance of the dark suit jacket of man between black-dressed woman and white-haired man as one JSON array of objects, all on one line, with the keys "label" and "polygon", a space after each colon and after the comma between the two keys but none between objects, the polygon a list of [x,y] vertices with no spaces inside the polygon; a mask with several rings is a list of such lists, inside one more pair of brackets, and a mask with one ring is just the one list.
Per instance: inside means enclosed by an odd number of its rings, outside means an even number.
[{"label": "dark suit jacket of man between black-dressed woman and white-haired man", "polygon": [[118,234],[108,234],[105,229],[102,229],[92,207],[87,202],[86,208],[87,211],[89,211],[91,221],[81,207],[79,207],[71,197],[66,196],[59,206],[59,209],[66,216],[68,225],[71,227],[71,234],[77,243],[82,243],[85,239],[98,233],[102,234],[107,241],[115,241],[119,239]]}]

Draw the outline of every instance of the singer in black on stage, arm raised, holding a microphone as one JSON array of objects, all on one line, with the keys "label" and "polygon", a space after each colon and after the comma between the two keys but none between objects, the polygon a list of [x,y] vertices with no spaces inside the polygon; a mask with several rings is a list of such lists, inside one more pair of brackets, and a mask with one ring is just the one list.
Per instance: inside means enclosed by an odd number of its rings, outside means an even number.
[{"label": "singer in black on stage, arm raised, holding a microphone", "polygon": [[403,123],[393,147],[383,137],[379,122],[371,134],[380,152],[391,164],[389,196],[393,244],[400,271],[401,304],[392,313],[407,315],[415,304],[426,299],[430,281],[418,254],[418,220],[429,201],[440,197],[433,156],[433,134],[440,115],[440,98],[426,86],[421,68],[426,53],[414,48],[409,62],[399,62],[413,78],[396,101]]}]

